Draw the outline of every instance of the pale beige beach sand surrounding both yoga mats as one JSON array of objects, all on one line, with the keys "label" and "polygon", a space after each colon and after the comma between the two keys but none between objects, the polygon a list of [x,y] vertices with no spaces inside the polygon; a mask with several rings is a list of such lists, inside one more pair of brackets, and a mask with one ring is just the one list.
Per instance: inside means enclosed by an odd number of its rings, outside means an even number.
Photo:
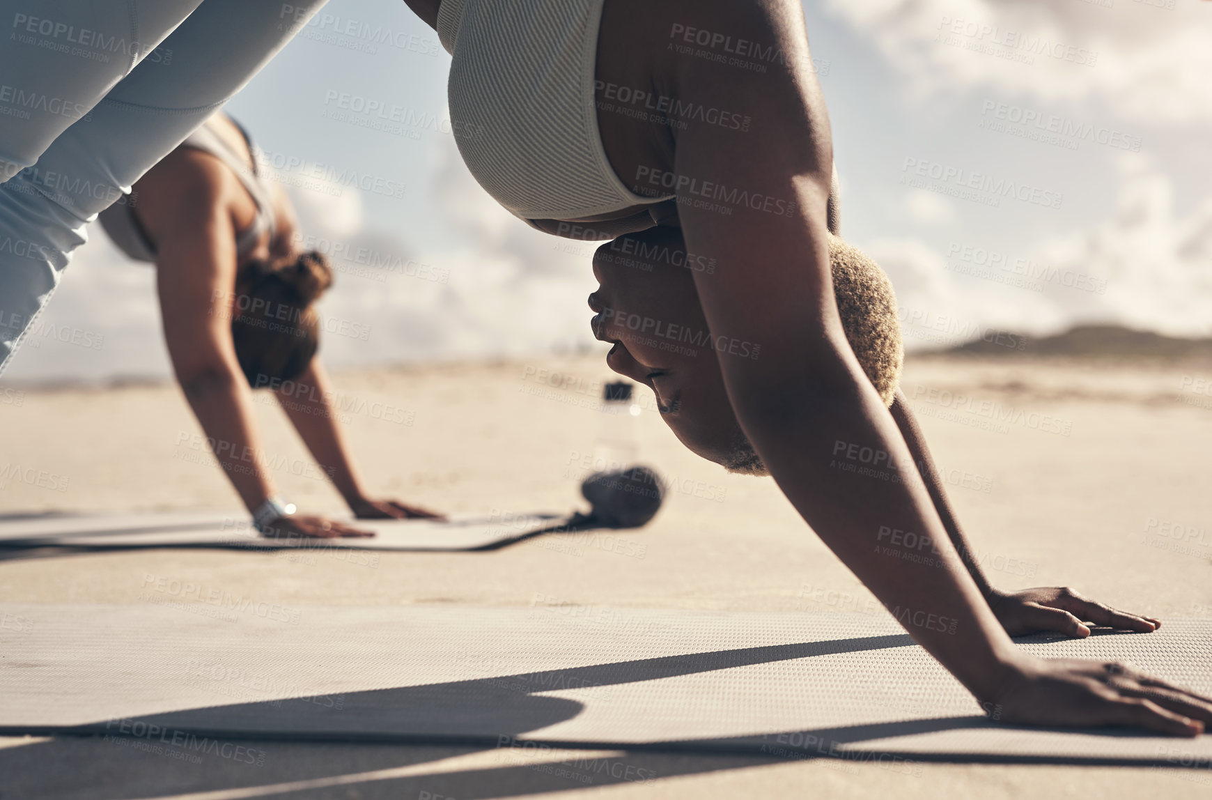
[{"label": "pale beige beach sand surrounding both yoga mats", "polygon": [[[598,429],[600,382],[610,377],[600,356],[578,356],[350,372],[336,383],[354,453],[375,491],[451,512],[524,513],[587,508],[578,486]],[[1212,379],[1212,367],[919,358],[902,385],[996,585],[1073,585],[1166,618],[1212,611],[1212,396],[1191,390],[1199,379]],[[153,575],[290,605],[867,605],[870,595],[772,481],[726,475],[686,452],[651,398],[642,400],[645,461],[674,485],[656,520],[608,544],[539,538],[493,553],[376,559],[44,553],[0,560],[0,604],[137,602]],[[206,463],[198,424],[173,385],[0,389],[0,404],[2,513],[239,509],[223,475]],[[305,510],[342,510],[282,415],[270,405],[257,412],[281,491]],[[17,476],[15,465],[22,468]],[[1206,770],[924,764],[903,775],[821,761],[599,754],[657,776],[639,783],[558,764],[584,753],[264,743],[273,760],[241,768],[187,765],[99,741],[4,744],[0,773],[24,764],[19,781],[5,781],[4,800],[184,792],[722,798],[799,796],[806,788],[845,798],[1194,798],[1212,785]]]}]

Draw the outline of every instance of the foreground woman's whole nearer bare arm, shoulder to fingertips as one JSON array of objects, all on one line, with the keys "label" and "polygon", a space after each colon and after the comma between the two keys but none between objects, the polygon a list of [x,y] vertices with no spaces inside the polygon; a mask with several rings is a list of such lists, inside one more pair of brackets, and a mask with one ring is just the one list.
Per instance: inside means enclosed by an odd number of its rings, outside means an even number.
[{"label": "foreground woman's whole nearer bare arm, shoulder to fingertips", "polygon": [[[737,418],[779,488],[922,647],[978,699],[1006,704],[1004,719],[1201,731],[1184,714],[1212,721],[1206,698],[1178,693],[1162,702],[1140,681],[1115,682],[1122,670],[1110,675],[1096,662],[1044,662],[1018,651],[927,490],[836,468],[839,447],[871,447],[903,465],[913,455],[837,316],[825,244],[831,143],[805,67],[802,10],[791,0],[711,10],[704,28],[776,47],[791,64],[755,74],[687,58],[674,79],[682,97],[711,97],[753,116],[745,135],[704,125],[679,132],[674,172],[687,248],[719,264],[713,275],[694,274],[713,336],[761,345],[759,359],[719,360]],[[718,200],[727,193],[744,201],[730,201],[722,213]],[[928,536],[938,564],[890,553],[885,527]]]}]

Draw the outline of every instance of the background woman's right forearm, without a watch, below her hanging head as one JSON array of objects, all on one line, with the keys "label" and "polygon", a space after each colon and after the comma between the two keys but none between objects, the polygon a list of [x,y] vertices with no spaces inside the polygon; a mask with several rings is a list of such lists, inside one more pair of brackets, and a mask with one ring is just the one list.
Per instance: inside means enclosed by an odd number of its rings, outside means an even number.
[{"label": "background woman's right forearm, without a watch, below her hanging head", "polygon": [[354,504],[364,499],[362,480],[337,422],[328,376],[319,359],[311,359],[292,383],[296,388],[290,395],[276,393],[282,411],[345,502]]}]

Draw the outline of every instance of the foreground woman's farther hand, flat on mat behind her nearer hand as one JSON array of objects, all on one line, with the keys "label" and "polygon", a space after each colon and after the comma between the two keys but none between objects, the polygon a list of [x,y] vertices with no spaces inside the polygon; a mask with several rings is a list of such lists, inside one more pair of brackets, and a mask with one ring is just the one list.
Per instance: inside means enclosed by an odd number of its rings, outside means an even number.
[{"label": "foreground woman's farther hand, flat on mat behind her nearer hand", "polygon": [[1022,592],[994,592],[989,598],[989,607],[1011,636],[1056,630],[1084,639],[1090,635],[1085,622],[1138,633],[1150,633],[1161,627],[1160,619],[1116,611],[1102,602],[1087,600],[1069,588],[1039,587]]}]

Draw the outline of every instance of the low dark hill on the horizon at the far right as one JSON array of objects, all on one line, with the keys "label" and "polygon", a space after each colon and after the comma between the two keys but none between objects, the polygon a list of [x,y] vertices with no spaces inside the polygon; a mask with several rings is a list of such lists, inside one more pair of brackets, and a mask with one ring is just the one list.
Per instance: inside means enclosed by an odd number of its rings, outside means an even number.
[{"label": "low dark hill on the horizon at the far right", "polygon": [[1064,333],[1045,337],[1023,337],[1022,349],[1011,349],[996,342],[977,339],[956,347],[920,352],[924,355],[1002,355],[1002,356],[1069,356],[1114,359],[1162,359],[1167,361],[1212,361],[1212,338],[1184,339],[1151,331],[1133,331],[1119,325],[1080,325]]}]

